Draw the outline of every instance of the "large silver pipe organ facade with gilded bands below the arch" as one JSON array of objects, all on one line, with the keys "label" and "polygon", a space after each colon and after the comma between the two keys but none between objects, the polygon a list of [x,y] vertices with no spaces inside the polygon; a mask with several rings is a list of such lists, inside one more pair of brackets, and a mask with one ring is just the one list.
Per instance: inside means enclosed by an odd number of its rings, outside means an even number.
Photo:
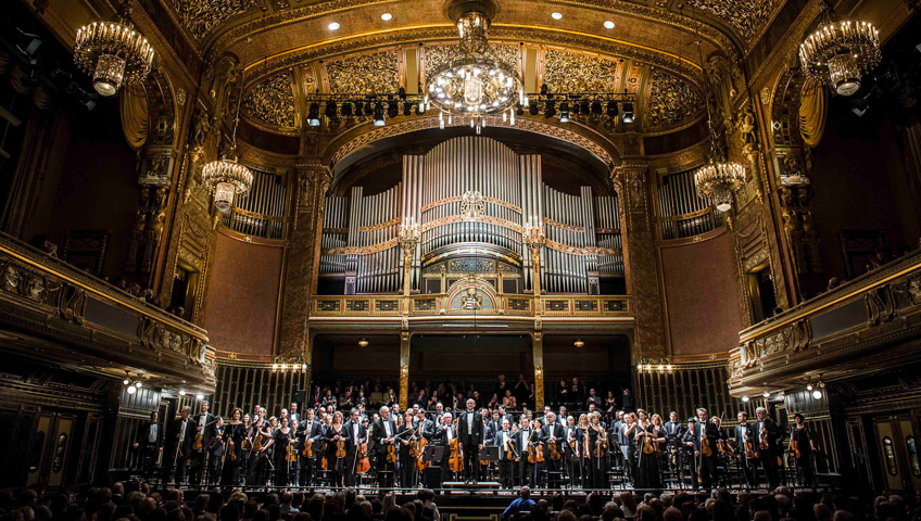
[{"label": "large silver pipe organ facade with gilded bands below the arch", "polygon": [[[412,291],[444,293],[450,281],[439,272],[452,272],[463,263],[449,262],[464,258],[482,260],[477,265],[495,276],[489,280],[499,292],[532,291],[532,257],[523,240],[529,229],[543,238],[543,291],[600,294],[600,278],[623,277],[616,195],[548,186],[540,155],[460,137],[405,155],[402,166],[402,180],[379,193],[366,195],[354,186],[348,195],[327,198],[320,276],[337,282],[326,288],[393,293],[402,289],[409,262]],[[417,243],[403,255],[401,230],[413,228]]]}]

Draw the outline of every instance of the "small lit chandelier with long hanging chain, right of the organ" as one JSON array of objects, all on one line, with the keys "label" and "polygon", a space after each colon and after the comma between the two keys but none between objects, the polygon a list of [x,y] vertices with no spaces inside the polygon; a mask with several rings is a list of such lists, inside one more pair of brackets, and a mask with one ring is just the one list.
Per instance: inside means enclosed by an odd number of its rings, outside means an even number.
[{"label": "small lit chandelier with long hanging chain, right of the organ", "polygon": [[[701,53],[701,64],[704,63],[704,51],[702,40],[697,40]],[[709,86],[706,67],[704,67],[704,82]],[[709,90],[709,89],[708,89]],[[706,165],[697,168],[694,173],[694,186],[697,195],[709,199],[716,204],[720,212],[729,212],[732,207],[732,194],[737,192],[745,182],[745,167],[732,161],[726,161],[717,149],[716,130],[714,130],[714,117],[710,114],[709,92],[705,93],[707,102],[707,129],[710,139],[710,158]]]}]

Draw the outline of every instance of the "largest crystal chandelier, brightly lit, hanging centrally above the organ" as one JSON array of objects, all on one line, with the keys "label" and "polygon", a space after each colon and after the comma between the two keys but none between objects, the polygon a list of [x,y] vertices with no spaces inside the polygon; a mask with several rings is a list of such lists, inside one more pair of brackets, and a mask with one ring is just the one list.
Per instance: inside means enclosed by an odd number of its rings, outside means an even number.
[{"label": "largest crystal chandelier, brightly lit, hanging centrally above the organ", "polygon": [[[503,114],[514,124],[515,104],[523,102],[521,79],[503,65],[487,41],[490,18],[479,11],[457,20],[460,58],[436,71],[428,79],[428,100],[442,113],[469,119],[477,130],[487,116]],[[440,116],[443,119],[443,115]]]}]

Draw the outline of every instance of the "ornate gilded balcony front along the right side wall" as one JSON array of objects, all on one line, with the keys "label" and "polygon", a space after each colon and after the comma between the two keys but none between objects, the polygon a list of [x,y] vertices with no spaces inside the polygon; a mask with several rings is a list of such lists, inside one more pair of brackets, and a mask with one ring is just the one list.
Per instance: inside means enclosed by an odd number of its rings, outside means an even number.
[{"label": "ornate gilded balcony front along the right side wall", "polygon": [[[848,281],[740,332],[730,386],[872,371],[921,358],[921,251]],[[897,361],[894,361],[897,360]]]}]

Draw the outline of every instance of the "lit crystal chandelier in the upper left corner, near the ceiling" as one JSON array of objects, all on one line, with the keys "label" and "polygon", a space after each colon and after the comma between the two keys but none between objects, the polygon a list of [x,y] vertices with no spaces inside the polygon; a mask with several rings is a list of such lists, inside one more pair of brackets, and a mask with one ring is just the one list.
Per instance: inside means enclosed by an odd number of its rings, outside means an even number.
[{"label": "lit crystal chandelier in the upper left corner, near the ceiling", "polygon": [[130,18],[125,0],[115,22],[93,22],[77,30],[74,61],[92,76],[92,87],[102,96],[114,96],[123,84],[143,81],[153,66],[153,48]]}]

